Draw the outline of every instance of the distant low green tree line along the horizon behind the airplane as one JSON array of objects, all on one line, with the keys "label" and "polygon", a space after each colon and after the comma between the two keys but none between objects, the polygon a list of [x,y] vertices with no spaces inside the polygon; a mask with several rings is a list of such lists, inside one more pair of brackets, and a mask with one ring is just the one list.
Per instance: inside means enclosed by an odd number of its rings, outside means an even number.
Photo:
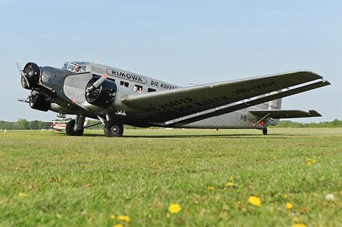
[{"label": "distant low green tree line along the horizon behind the airplane", "polygon": [[[68,119],[69,120],[69,119]],[[71,119],[70,119],[71,120]],[[58,121],[58,120],[56,120]],[[95,120],[89,120],[88,124],[98,122]],[[332,120],[330,122],[311,122],[311,123],[300,123],[293,122],[291,120],[281,120],[279,125],[275,127],[342,127],[342,120]],[[48,130],[51,128],[50,122],[42,122],[38,120],[25,120],[19,119],[16,122],[6,122],[0,120],[0,130]],[[96,125],[95,127],[90,127],[89,129],[102,129],[102,124]],[[130,126],[125,126],[125,128],[135,128]]]}]

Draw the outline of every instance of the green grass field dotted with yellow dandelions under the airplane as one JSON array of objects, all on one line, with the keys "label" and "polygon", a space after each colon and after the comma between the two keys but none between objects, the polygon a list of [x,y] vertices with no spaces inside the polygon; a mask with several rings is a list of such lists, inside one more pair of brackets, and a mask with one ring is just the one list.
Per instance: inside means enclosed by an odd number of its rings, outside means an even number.
[{"label": "green grass field dotted with yellow dandelions under the airplane", "polygon": [[0,132],[0,226],[342,226],[341,154],[342,128]]}]

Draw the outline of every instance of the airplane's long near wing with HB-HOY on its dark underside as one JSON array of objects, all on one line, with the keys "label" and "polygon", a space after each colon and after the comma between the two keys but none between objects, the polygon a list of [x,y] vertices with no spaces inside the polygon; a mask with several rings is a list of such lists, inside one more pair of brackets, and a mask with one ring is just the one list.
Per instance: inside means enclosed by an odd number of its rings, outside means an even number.
[{"label": "airplane's long near wing with HB-HOY on its dark underside", "polygon": [[122,102],[124,110],[136,120],[166,122],[319,79],[322,77],[316,73],[296,71],[165,92],[127,95]]}]

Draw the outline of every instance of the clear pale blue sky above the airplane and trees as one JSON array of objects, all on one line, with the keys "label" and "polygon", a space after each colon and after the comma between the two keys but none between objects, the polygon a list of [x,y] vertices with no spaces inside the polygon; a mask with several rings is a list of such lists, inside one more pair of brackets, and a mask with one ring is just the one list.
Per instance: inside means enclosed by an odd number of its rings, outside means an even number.
[{"label": "clear pale blue sky above the airplane and trees", "polygon": [[27,97],[15,62],[113,65],[177,85],[313,70],[332,85],[283,108],[342,119],[342,1],[0,0],[0,120],[49,120]]}]

